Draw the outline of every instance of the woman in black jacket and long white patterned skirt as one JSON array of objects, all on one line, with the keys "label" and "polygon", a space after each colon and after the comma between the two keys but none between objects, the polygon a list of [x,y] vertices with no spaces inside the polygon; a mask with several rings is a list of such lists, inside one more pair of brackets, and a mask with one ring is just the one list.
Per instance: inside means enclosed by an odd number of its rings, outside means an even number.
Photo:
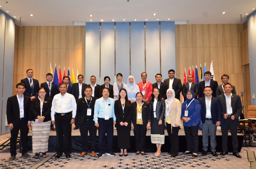
[{"label": "woman in black jacket and long white patterned skirt", "polygon": [[31,102],[32,150],[33,153],[36,153],[34,158],[38,158],[40,152],[42,152],[42,157],[47,157],[52,99],[45,95],[46,90],[39,88],[38,97]]}]

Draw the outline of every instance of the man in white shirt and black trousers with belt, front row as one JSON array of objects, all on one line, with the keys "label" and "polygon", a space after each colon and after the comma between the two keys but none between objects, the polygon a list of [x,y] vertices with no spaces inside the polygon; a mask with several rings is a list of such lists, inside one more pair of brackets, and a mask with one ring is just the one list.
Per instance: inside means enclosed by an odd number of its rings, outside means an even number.
[{"label": "man in white shirt and black trousers with belt, front row", "polygon": [[55,125],[57,134],[55,158],[60,158],[63,152],[66,158],[70,158],[72,152],[71,124],[75,123],[76,102],[75,97],[66,92],[67,85],[65,83],[59,85],[59,90],[60,94],[53,97],[51,108],[52,124]]}]

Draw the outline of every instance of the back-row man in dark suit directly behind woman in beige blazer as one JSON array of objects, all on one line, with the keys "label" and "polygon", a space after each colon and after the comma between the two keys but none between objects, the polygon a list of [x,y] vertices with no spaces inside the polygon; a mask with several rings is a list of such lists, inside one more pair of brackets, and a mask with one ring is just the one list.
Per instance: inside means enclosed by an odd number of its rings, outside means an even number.
[{"label": "back-row man in dark suit directly behind woman in beige blazer", "polygon": [[169,78],[164,80],[167,86],[175,91],[175,98],[180,100],[180,92],[182,90],[181,80],[175,78],[175,71],[173,69],[168,71]]}]

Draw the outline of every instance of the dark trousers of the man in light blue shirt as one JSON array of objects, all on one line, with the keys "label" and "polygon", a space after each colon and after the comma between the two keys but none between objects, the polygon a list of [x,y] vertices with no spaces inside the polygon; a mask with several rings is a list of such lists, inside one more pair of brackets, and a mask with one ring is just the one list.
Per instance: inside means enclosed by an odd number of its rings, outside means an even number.
[{"label": "dark trousers of the man in light blue shirt", "polygon": [[[104,154],[105,152],[113,152],[113,134],[114,134],[114,123],[113,118],[105,120],[103,118],[98,118],[98,135],[99,135],[99,154]],[[105,136],[107,133],[107,146],[105,144]]]}]

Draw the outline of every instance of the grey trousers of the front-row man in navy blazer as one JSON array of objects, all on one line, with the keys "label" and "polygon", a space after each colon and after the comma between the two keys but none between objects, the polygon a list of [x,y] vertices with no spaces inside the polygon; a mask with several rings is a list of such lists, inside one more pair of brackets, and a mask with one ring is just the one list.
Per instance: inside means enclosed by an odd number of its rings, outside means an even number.
[{"label": "grey trousers of the front-row man in navy blazer", "polygon": [[216,151],[216,130],[217,126],[212,123],[212,120],[206,120],[202,124],[202,135],[203,135],[203,151],[208,150],[208,139],[210,134],[211,151]]}]

